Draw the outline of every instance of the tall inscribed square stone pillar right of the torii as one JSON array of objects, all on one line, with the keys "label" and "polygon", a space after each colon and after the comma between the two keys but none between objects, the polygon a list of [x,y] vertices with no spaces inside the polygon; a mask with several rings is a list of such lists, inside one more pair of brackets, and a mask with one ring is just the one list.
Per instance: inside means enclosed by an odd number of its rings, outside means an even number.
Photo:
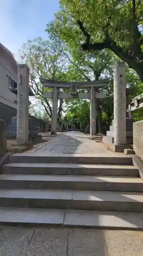
[{"label": "tall inscribed square stone pillar right of the torii", "polygon": [[[125,63],[118,62],[115,66],[113,82],[114,105],[114,144],[115,151],[122,152],[126,144],[126,67]],[[125,148],[125,147],[124,147]]]}]

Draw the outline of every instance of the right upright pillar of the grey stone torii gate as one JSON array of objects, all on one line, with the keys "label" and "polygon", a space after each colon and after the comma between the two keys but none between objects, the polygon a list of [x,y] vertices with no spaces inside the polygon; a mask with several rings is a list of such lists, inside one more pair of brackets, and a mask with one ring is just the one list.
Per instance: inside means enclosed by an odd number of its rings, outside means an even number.
[{"label": "right upright pillar of the grey stone torii gate", "polygon": [[95,88],[91,87],[91,100],[90,100],[90,136],[96,135],[96,99]]}]

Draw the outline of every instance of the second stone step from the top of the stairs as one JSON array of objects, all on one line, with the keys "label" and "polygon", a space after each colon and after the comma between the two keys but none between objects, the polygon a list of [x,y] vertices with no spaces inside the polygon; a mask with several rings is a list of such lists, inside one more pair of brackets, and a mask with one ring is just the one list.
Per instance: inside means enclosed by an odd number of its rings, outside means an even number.
[{"label": "second stone step from the top of the stairs", "polygon": [[3,165],[3,174],[32,175],[94,175],[138,177],[133,165],[115,164],[64,164],[64,163],[8,163]]}]

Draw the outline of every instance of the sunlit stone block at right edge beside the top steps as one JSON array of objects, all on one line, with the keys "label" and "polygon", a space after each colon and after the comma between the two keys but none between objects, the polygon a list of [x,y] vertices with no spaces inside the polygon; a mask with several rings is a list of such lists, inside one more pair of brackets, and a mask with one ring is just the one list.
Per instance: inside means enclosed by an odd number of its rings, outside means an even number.
[{"label": "sunlit stone block at right edge beside the top steps", "polygon": [[143,161],[143,120],[133,123],[133,149]]}]

